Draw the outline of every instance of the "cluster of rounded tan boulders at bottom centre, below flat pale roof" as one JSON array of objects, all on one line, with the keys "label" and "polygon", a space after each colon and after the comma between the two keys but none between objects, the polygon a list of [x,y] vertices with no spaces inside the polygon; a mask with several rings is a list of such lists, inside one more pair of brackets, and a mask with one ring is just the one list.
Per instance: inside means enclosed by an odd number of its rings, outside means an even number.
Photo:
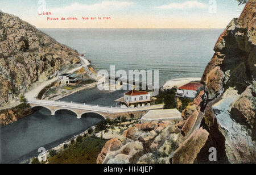
[{"label": "cluster of rounded tan boulders at bottom centre, below flat pale roof", "polygon": [[108,141],[97,163],[170,163],[168,155],[174,153],[183,138],[177,124],[156,122],[136,124],[126,130],[124,136],[119,149],[111,151],[109,145],[115,139]]}]

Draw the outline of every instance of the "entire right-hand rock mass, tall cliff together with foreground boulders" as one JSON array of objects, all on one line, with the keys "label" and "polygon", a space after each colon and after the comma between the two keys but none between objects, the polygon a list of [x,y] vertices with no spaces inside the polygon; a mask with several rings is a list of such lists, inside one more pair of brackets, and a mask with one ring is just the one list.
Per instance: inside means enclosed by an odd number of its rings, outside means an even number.
[{"label": "entire right-hand rock mass, tall cliff together with foreground boulders", "polygon": [[[124,139],[106,143],[97,163],[256,163],[255,10],[250,0],[217,40],[204,91],[183,121],[129,128]],[[216,161],[209,159],[214,150]]]}]

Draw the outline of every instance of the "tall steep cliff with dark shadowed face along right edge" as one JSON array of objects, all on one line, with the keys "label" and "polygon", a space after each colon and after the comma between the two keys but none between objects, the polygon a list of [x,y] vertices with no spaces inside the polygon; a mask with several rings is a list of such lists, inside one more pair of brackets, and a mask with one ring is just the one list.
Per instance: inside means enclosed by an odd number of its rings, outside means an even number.
[{"label": "tall steep cliff with dark shadowed face along right edge", "polygon": [[255,10],[256,1],[249,1],[240,18],[226,27],[201,79],[205,86],[201,126],[209,138],[198,163],[209,162],[203,156],[210,147],[217,149],[218,163],[256,163]]}]

